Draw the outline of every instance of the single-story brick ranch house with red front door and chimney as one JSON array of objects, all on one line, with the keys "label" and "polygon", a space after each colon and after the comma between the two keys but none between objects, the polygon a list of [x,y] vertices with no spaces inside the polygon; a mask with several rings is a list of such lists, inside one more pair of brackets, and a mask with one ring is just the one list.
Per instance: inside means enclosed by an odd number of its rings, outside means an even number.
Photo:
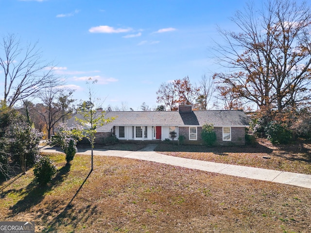
[{"label": "single-story brick ranch house with red front door and chimney", "polygon": [[242,110],[192,111],[191,105],[180,105],[178,111],[106,112],[105,117],[116,119],[97,129],[98,138],[114,133],[119,140],[172,140],[174,131],[174,140],[183,135],[186,144],[202,144],[202,125],[208,123],[214,126],[217,145],[245,145],[248,127]]}]

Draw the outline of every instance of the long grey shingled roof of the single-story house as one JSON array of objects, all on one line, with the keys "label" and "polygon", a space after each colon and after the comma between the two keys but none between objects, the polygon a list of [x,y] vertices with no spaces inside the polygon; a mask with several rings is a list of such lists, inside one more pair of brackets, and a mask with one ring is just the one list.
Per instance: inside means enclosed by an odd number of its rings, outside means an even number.
[{"label": "long grey shingled roof of the single-story house", "polygon": [[[79,114],[76,117],[81,117]],[[113,126],[202,126],[205,123],[217,126],[248,126],[248,119],[242,110],[208,111],[127,111],[106,112],[105,118],[116,117],[97,132],[109,132]],[[75,117],[70,121],[73,123]]]}]

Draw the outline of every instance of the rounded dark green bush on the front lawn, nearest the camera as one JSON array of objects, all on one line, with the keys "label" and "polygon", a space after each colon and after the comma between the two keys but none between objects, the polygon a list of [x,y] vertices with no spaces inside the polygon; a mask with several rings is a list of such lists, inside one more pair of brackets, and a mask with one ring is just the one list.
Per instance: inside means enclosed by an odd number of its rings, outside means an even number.
[{"label": "rounded dark green bush on the front lawn, nearest the camera", "polygon": [[56,172],[56,166],[53,165],[52,160],[47,156],[40,157],[34,169],[35,177],[41,184],[46,184],[52,181]]}]

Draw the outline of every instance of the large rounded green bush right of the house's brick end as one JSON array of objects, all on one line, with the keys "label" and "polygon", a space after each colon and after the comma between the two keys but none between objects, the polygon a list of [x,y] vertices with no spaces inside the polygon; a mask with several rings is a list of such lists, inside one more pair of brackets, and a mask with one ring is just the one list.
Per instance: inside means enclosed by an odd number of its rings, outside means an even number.
[{"label": "large rounded green bush right of the house's brick end", "polygon": [[288,144],[292,140],[292,131],[287,125],[271,121],[266,127],[267,138],[273,144]]}]

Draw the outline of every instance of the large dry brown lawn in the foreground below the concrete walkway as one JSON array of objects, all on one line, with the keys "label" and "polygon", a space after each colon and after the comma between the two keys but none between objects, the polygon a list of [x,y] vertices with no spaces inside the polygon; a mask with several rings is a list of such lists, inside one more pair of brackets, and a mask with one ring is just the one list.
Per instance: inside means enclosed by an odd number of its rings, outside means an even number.
[{"label": "large dry brown lawn in the foreground below the concrete walkway", "polygon": [[50,155],[58,173],[33,171],[0,186],[0,219],[34,220],[36,232],[310,233],[307,188],[117,157]]}]

